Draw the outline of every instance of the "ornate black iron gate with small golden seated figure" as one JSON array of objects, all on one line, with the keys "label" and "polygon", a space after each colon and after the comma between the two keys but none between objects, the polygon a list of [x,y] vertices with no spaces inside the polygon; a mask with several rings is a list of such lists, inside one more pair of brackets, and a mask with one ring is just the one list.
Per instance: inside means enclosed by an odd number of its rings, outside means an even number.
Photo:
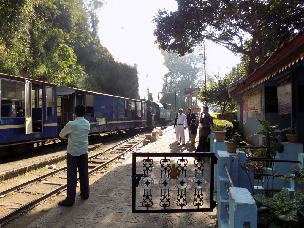
[{"label": "ornate black iron gate with small golden seated figure", "polygon": [[132,213],[213,211],[213,153],[133,153]]}]

